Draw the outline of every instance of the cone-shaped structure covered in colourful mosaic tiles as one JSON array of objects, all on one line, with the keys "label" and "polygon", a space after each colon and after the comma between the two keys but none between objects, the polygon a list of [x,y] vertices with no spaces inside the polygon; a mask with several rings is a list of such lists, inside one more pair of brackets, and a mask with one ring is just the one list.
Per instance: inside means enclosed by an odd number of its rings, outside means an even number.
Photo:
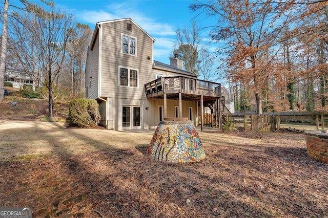
[{"label": "cone-shaped structure covered in colourful mosaic tiles", "polygon": [[187,163],[206,155],[191,121],[161,121],[148,146],[148,156],[156,161]]}]

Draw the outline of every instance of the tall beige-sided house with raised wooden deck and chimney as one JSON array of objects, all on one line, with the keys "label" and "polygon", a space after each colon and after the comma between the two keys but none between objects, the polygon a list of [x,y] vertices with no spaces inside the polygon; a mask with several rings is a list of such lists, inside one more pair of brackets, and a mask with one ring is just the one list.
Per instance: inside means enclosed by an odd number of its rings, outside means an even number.
[{"label": "tall beige-sided house with raised wooden deck and chimney", "polygon": [[196,125],[204,103],[220,104],[219,83],[198,80],[182,70],[177,57],[170,65],[154,60],[154,43],[131,18],[96,24],[87,55],[86,97],[98,101],[107,128],[156,128],[165,117],[188,117]]}]

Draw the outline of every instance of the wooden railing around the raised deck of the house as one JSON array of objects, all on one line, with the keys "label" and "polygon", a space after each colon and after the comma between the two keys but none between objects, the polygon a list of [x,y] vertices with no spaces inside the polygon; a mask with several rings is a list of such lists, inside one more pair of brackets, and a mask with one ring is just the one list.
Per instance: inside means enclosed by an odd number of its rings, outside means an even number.
[{"label": "wooden railing around the raised deck of the house", "polygon": [[145,92],[150,94],[185,93],[204,96],[221,96],[221,84],[189,77],[160,77],[145,84]]}]

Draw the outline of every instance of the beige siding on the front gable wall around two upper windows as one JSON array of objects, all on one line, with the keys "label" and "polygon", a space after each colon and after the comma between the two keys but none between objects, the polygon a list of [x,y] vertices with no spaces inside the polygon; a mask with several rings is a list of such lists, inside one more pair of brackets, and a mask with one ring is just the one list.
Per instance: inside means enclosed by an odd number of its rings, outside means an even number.
[{"label": "beige siding on the front gable wall around two upper windows", "polygon": [[[129,20],[107,23],[101,26],[101,96],[140,99],[144,98],[144,84],[155,77],[152,71],[152,39]],[[121,53],[121,33],[133,36],[136,41],[136,56]],[[147,57],[150,57],[148,60]],[[118,85],[118,67],[138,70],[138,88]]]}]

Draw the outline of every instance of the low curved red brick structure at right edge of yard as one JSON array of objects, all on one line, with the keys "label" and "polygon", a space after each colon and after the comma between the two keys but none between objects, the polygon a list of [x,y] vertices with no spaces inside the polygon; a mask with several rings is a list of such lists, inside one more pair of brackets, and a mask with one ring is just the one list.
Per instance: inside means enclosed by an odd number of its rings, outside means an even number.
[{"label": "low curved red brick structure at right edge of yard", "polygon": [[328,133],[306,132],[305,140],[310,157],[328,164]]}]

